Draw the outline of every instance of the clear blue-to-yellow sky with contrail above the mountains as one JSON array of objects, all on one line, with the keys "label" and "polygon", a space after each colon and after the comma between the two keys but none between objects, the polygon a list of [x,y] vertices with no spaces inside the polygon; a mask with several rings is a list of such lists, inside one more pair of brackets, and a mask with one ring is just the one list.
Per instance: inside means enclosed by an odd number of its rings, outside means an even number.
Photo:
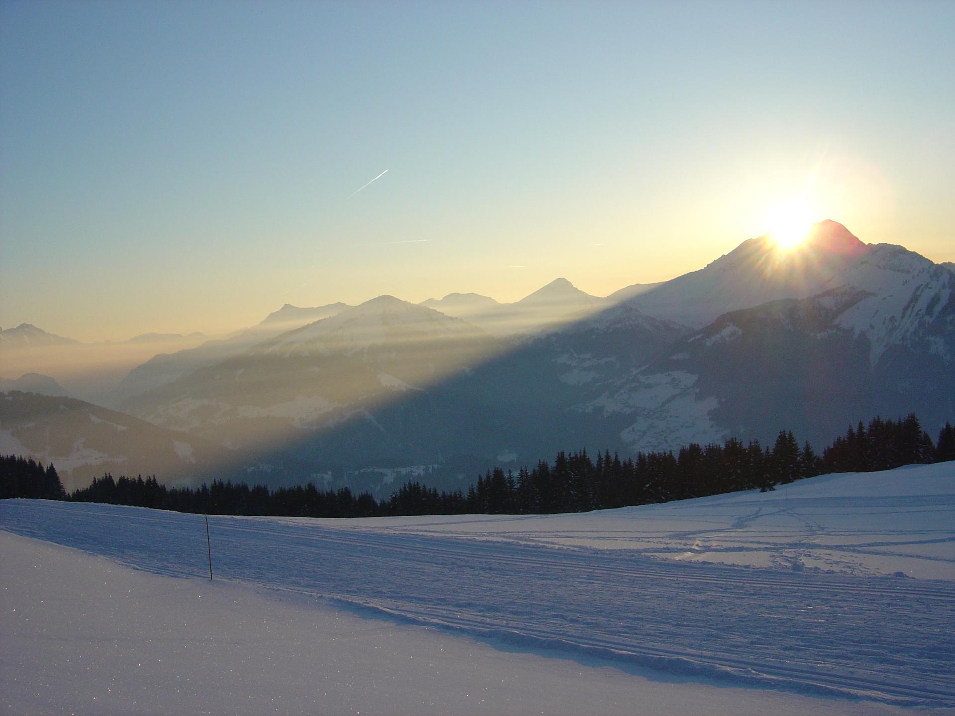
[{"label": "clear blue-to-yellow sky with contrail above the mountains", "polygon": [[0,326],[603,296],[795,197],[955,261],[953,34],[928,0],[0,0]]}]

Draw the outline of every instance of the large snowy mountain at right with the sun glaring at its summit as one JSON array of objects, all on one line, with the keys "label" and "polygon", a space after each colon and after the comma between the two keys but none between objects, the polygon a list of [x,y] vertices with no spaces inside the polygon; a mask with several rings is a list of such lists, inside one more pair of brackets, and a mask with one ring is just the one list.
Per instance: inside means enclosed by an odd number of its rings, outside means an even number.
[{"label": "large snowy mountain at right with the sun glaring at its summit", "polygon": [[[934,431],[955,415],[953,288],[943,265],[834,221],[783,255],[766,238],[743,242],[625,302],[700,328],[577,410],[630,450],[782,428],[822,445],[850,422],[910,411]],[[760,296],[776,298],[746,305]]]}]

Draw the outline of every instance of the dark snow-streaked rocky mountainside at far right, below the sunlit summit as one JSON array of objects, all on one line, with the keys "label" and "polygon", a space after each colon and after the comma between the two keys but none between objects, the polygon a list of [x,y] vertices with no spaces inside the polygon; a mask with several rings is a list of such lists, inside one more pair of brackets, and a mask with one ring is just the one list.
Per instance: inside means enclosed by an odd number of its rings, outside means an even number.
[{"label": "dark snow-streaked rocky mountainside at far right, below the sunlit summit", "polygon": [[782,428],[818,446],[877,414],[937,430],[955,416],[955,275],[893,244],[854,253],[838,288],[726,313],[579,410],[631,450]]}]

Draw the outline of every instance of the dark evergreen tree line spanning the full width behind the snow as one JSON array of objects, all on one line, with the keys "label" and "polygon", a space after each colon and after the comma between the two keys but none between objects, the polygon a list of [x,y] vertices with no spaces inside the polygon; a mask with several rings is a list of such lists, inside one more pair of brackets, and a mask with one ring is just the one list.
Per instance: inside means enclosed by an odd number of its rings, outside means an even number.
[{"label": "dark evergreen tree line spanning the full width behind the snow", "polygon": [[768,491],[817,474],[891,470],[902,465],[955,460],[955,428],[945,423],[933,442],[910,414],[898,420],[873,418],[850,426],[818,455],[792,431],[780,431],[773,446],[735,437],[719,443],[690,443],[676,453],[637,453],[621,459],[608,451],[596,459],[584,450],[558,453],[517,474],[501,468],[477,477],[466,492],[438,493],[417,482],[375,500],[348,487],[320,490],[314,483],[292,488],[249,487],[214,481],[199,488],[166,487],[155,476],[111,474],[66,495],[53,465],[0,456],[0,497],[71,499],[77,502],[151,507],[209,515],[398,516],[486,513],[547,514],[586,512],[739,490]]}]

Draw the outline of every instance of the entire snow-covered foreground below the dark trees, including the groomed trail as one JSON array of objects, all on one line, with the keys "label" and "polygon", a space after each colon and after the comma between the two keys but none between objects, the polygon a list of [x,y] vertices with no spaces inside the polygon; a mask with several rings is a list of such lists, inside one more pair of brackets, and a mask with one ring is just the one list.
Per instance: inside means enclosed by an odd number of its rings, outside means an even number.
[{"label": "entire snow-covered foreground below the dark trees, including the groomed trail", "polygon": [[202,516],[0,502],[8,712],[955,709],[955,463],[585,515],[210,522],[211,584]]}]

